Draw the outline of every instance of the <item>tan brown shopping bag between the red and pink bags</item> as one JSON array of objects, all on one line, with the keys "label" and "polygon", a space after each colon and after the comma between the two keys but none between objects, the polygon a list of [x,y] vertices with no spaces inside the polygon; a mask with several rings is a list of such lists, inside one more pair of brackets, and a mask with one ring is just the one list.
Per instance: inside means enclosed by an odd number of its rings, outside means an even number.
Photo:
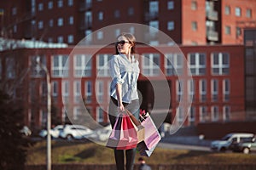
[{"label": "tan brown shopping bag between the red and pink bags", "polygon": [[132,113],[128,110],[126,110],[126,113],[131,118],[131,122],[135,125],[137,130],[137,143],[140,143],[145,139],[145,128],[143,127],[142,123],[137,120],[135,116],[132,115]]}]

